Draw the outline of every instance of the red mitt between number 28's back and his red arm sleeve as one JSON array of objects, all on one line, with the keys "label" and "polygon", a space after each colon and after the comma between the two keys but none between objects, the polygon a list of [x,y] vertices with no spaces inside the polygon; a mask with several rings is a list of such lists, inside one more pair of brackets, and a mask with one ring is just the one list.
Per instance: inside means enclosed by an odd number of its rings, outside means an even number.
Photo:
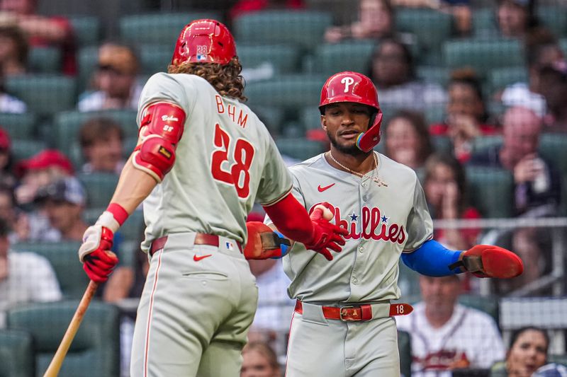
[{"label": "red mitt between number 28's back and his red arm sleeve", "polygon": [[259,221],[246,223],[248,242],[244,249],[246,259],[268,259],[282,257],[281,245],[290,246],[286,238],[281,238],[266,224]]}]

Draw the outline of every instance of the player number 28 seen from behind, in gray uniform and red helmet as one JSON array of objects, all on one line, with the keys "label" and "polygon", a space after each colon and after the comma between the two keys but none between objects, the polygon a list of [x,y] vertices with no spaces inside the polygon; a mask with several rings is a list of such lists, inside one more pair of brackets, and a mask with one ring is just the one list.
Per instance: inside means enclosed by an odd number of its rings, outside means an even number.
[{"label": "player number 28 seen from behind, in gray uniform and red helmet", "polygon": [[330,257],[329,248],[344,245],[344,230],[310,217],[291,195],[274,141],[242,103],[241,70],[225,25],[198,20],[181,30],[169,73],[155,74],[142,91],[140,137],[111,204],[84,233],[80,260],[103,282],[117,262],[108,252],[113,233],[143,201],[150,270],[132,376],[239,375],[257,304],[243,254],[254,201],[286,237],[315,252]]}]

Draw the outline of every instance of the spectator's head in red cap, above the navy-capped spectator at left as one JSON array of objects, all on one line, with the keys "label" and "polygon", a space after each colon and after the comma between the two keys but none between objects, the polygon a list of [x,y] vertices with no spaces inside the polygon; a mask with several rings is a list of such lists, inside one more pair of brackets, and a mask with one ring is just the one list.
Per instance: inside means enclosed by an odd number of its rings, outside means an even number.
[{"label": "spectator's head in red cap, above the navy-capped spectator at left", "polygon": [[57,149],[45,149],[28,160],[21,161],[16,166],[16,172],[21,176],[21,185],[16,187],[19,205],[32,202],[40,187],[74,174],[69,158]]}]

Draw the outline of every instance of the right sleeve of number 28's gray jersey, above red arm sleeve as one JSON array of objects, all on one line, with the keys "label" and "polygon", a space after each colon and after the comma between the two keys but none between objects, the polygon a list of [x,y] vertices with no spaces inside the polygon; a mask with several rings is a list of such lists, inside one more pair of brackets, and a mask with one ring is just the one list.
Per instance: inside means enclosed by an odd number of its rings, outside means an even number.
[{"label": "right sleeve of number 28's gray jersey, above red arm sleeve", "polygon": [[291,190],[291,173],[283,162],[274,139],[269,137],[266,162],[262,170],[262,178],[258,187],[256,200],[263,206],[269,206],[285,197]]}]

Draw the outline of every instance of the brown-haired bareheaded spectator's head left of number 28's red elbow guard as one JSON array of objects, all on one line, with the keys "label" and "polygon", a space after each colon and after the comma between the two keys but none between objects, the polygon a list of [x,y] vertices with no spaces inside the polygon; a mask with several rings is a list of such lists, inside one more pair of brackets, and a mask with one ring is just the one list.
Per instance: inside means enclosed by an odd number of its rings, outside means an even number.
[{"label": "brown-haired bareheaded spectator's head left of number 28's red elbow guard", "polygon": [[87,120],[79,131],[79,142],[86,161],[82,172],[120,174],[125,164],[123,140],[122,128],[116,121],[103,117]]}]

